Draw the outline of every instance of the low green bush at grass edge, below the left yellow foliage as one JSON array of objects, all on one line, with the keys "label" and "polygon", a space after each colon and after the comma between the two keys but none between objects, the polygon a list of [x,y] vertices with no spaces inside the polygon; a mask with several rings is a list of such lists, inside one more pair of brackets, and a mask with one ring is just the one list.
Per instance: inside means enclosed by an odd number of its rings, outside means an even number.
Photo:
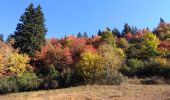
[{"label": "low green bush at grass edge, below the left yellow foliage", "polygon": [[17,83],[20,91],[32,91],[37,90],[41,82],[35,73],[25,72],[17,76]]}]

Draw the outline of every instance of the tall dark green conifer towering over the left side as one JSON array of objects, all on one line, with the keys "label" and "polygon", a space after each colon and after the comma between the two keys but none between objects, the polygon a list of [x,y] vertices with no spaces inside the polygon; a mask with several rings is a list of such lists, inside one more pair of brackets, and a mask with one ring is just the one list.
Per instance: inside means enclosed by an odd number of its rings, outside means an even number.
[{"label": "tall dark green conifer towering over the left side", "polygon": [[35,51],[40,51],[45,45],[45,27],[44,14],[42,8],[38,5],[34,8],[31,3],[20,17],[20,23],[14,33],[14,48],[19,48],[20,53],[26,53],[33,56]]}]

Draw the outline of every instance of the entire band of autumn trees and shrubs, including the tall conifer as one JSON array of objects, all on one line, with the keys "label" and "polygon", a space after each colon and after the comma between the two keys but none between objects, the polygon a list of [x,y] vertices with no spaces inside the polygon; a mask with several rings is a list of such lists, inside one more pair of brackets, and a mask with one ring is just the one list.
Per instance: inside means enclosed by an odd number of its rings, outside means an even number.
[{"label": "entire band of autumn trees and shrubs, including the tall conifer", "polygon": [[170,23],[163,18],[153,30],[125,23],[123,30],[106,27],[97,35],[60,39],[45,38],[40,5],[30,4],[19,21],[6,41],[0,35],[0,94],[120,85],[134,77],[144,79],[141,84],[170,83]]}]

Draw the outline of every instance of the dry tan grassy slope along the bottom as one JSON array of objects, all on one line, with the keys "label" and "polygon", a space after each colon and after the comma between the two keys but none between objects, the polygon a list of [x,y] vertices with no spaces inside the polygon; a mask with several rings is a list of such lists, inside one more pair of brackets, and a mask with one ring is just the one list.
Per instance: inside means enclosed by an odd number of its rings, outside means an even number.
[{"label": "dry tan grassy slope along the bottom", "polygon": [[169,100],[170,85],[79,86],[0,96],[0,100]]}]

